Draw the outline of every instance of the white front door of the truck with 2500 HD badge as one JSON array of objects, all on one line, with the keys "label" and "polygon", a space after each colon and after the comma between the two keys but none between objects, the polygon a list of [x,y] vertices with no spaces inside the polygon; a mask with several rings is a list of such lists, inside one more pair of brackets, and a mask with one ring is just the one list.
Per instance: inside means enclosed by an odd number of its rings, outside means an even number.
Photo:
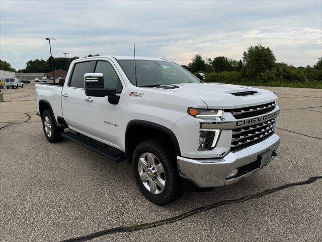
[{"label": "white front door of the truck with 2500 HD badge", "polygon": [[[120,95],[118,104],[108,102],[108,97],[88,97],[85,95],[85,119],[88,134],[114,147],[121,147],[121,116],[124,92],[123,83],[114,64],[107,60],[97,61],[95,73],[102,73],[105,88],[115,88]],[[124,129],[124,127],[123,127]]]}]

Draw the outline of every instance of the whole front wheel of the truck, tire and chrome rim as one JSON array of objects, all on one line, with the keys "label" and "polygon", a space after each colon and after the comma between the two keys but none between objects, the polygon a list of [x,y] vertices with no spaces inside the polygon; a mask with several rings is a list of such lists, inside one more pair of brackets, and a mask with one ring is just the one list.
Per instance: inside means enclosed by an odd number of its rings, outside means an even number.
[{"label": "whole front wheel of the truck, tire and chrome rim", "polygon": [[141,142],[133,152],[133,172],[141,193],[157,205],[176,200],[183,192],[176,154],[159,139]]}]

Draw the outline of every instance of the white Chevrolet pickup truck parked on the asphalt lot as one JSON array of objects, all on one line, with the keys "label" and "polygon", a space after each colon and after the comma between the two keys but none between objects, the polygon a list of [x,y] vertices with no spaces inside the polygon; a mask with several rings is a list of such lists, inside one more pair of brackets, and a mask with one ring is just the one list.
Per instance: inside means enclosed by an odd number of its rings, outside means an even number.
[{"label": "white Chevrolet pickup truck parked on the asphalt lot", "polygon": [[76,59],[64,83],[36,84],[35,92],[49,142],[65,137],[128,160],[140,191],[158,205],[185,188],[230,185],[259,171],[280,143],[275,94],[204,83],[165,58]]}]

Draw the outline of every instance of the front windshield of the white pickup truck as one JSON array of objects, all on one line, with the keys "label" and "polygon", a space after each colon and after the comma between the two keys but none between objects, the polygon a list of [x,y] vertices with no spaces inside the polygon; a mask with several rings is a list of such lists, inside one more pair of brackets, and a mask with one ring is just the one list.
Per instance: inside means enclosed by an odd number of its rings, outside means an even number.
[{"label": "front windshield of the white pickup truck", "polygon": [[[135,85],[133,59],[117,61],[130,82]],[[136,61],[136,79],[138,87],[153,87],[162,84],[199,83],[199,79],[173,62]]]}]

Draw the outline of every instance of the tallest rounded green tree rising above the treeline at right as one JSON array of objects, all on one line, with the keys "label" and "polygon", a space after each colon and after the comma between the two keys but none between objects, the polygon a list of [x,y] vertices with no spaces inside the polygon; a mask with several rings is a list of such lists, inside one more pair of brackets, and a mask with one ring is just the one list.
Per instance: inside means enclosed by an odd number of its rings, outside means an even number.
[{"label": "tallest rounded green tree rising above the treeline at right", "polygon": [[244,52],[243,61],[246,77],[255,78],[261,73],[271,70],[276,62],[275,55],[269,47],[261,44],[250,46]]}]

